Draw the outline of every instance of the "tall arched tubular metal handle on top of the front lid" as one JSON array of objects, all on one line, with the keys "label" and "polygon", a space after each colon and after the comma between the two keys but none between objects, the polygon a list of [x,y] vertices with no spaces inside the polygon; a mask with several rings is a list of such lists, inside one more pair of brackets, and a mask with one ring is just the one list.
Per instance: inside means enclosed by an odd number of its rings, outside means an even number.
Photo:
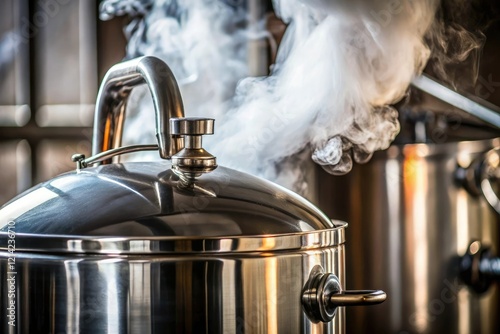
[{"label": "tall arched tubular metal handle on top of the front lid", "polygon": [[153,98],[160,156],[168,159],[182,149],[182,137],[172,136],[169,128],[170,118],[184,117],[179,87],[167,64],[146,56],[116,64],[106,73],[97,95],[92,155],[121,145],[127,100],[132,89],[142,84]]}]

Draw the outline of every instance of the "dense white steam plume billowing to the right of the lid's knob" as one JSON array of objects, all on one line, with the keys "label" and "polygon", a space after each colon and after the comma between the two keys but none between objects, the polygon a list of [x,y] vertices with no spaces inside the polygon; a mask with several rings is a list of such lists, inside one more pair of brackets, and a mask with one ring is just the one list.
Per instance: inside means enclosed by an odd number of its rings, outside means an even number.
[{"label": "dense white steam plume billowing to the right of the lid's knob", "polygon": [[401,1],[396,7],[394,1],[306,3],[275,1],[289,26],[273,73],[240,83],[231,117],[219,132],[223,139],[214,148],[240,155],[241,165],[233,167],[250,165],[274,180],[280,180],[276,162],[306,145],[332,174],[348,172],[353,159],[364,162],[389,146],[399,131],[397,112],[389,105],[402,98],[427,61],[423,37],[437,6],[436,1]]}]

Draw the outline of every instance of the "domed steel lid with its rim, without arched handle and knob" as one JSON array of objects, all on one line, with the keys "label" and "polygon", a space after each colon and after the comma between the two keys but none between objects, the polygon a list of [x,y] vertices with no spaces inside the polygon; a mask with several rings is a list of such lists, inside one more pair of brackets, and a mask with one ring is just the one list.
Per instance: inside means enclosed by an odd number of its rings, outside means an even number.
[{"label": "domed steel lid with its rim, without arched handle and knob", "polygon": [[0,222],[17,251],[38,252],[274,251],[344,238],[342,223],[271,182],[224,167],[186,182],[168,161],[62,174],[7,203]]}]

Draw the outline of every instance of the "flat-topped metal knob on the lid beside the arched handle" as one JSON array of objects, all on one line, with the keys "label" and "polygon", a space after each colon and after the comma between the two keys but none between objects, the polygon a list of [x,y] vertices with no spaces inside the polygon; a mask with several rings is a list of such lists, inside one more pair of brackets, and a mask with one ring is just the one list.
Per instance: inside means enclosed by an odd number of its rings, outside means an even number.
[{"label": "flat-topped metal knob on the lid beside the arched handle", "polygon": [[211,118],[171,118],[170,133],[184,137],[184,148],[172,156],[173,170],[189,179],[217,168],[215,157],[202,146],[202,136],[214,133]]}]

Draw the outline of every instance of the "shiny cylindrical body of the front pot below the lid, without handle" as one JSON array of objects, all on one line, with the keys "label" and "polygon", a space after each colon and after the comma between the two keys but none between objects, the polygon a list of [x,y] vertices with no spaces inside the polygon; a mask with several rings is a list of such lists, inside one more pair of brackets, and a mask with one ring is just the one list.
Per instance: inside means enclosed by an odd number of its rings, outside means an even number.
[{"label": "shiny cylindrical body of the front pot below the lid, without handle", "polygon": [[[20,236],[17,239],[21,239]],[[6,282],[9,253],[0,251]],[[344,284],[344,245],[225,256],[69,256],[16,252],[16,327],[1,333],[343,333],[303,312],[320,265]],[[0,314],[7,313],[0,285]],[[5,318],[4,318],[5,319]]]}]

